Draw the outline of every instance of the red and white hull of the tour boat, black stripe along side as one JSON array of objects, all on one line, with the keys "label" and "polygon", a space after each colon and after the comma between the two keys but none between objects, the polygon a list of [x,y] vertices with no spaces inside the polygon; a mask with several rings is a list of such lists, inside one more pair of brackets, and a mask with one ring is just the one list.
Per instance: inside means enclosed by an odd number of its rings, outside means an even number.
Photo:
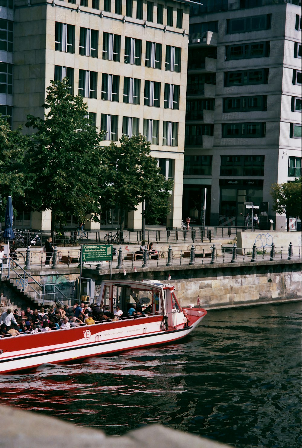
[{"label": "red and white hull of the tour boat, black stripe along side", "polygon": [[168,344],[186,337],[205,314],[200,309],[188,316],[187,324],[168,330],[160,315],[1,338],[0,373]]}]

